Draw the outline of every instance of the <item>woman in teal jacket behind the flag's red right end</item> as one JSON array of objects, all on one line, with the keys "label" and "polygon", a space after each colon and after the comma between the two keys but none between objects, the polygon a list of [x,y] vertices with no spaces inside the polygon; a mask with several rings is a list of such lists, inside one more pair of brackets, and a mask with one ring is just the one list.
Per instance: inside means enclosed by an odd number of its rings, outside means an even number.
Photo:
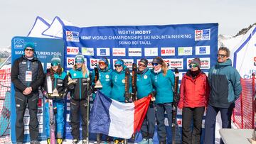
[{"label": "woman in teal jacket behind the flag's red right end", "polygon": [[[142,58],[139,60],[139,67],[137,72],[137,98],[142,99],[153,92],[151,82],[151,71],[147,67],[148,60]],[[143,140],[139,144],[153,144],[153,136],[155,130],[155,112],[153,101],[150,101],[149,109],[146,111],[146,116],[142,123],[142,137]]]}]

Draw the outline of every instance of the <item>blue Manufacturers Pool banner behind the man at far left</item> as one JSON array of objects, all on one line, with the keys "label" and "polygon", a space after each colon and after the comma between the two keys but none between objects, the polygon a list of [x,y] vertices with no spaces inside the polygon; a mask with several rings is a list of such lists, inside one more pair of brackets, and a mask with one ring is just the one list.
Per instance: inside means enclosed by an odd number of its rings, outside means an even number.
[{"label": "blue Manufacturers Pool banner behind the man at far left", "polygon": [[[43,70],[46,72],[46,68],[50,67],[50,60],[53,55],[58,55],[60,57],[61,66],[63,67],[65,59],[64,59],[64,41],[60,39],[50,39],[50,38],[31,38],[31,37],[14,37],[11,40],[11,63],[14,64],[14,60],[21,55],[24,55],[24,46],[26,43],[33,43],[35,45],[36,57],[38,60],[42,62]],[[79,51],[79,47],[67,47],[65,50],[70,55],[76,55]],[[15,123],[16,123],[16,104],[15,104],[15,90],[14,85],[11,84],[11,141],[12,143],[16,143],[16,135],[15,135]],[[46,123],[44,121],[44,100],[43,94],[39,91],[39,99],[38,99],[38,122],[39,122],[39,135],[38,140],[46,140]],[[28,109],[26,109],[24,113],[23,123],[24,123],[24,143],[30,141],[29,136],[29,113]]]}]

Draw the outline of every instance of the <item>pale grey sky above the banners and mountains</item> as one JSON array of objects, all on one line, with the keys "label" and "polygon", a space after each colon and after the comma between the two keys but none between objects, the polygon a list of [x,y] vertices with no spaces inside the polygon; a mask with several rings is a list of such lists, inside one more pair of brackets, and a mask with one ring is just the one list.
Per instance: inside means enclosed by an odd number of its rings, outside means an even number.
[{"label": "pale grey sky above the banners and mountains", "polygon": [[59,16],[79,27],[219,23],[219,34],[235,35],[256,23],[255,6],[255,0],[0,1],[0,48],[28,35],[36,16]]}]

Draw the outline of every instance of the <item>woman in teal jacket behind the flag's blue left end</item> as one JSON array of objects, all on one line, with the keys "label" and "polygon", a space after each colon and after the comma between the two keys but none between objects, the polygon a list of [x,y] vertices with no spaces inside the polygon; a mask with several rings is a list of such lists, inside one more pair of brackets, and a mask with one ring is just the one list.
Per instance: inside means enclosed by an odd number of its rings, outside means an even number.
[{"label": "woman in teal jacket behind the flag's blue left end", "polygon": [[[99,80],[102,84],[102,88],[100,88],[100,92],[105,94],[105,96],[110,97],[112,86],[111,86],[111,75],[112,70],[109,67],[109,62],[107,57],[102,57],[99,60],[99,64],[97,65],[97,70],[99,71]],[[95,87],[95,71],[92,72],[92,87]],[[92,98],[95,99],[95,93],[93,93]],[[101,143],[102,133],[97,133],[97,144]],[[107,142],[110,143],[110,137],[107,136]]]}]

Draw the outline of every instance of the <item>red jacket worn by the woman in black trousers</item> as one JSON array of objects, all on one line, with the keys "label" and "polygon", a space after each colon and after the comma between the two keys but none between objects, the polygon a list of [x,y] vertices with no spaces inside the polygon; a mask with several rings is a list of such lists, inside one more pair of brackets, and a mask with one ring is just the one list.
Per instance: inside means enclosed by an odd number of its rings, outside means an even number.
[{"label": "red jacket worn by the woman in black trousers", "polygon": [[210,86],[205,73],[200,72],[192,79],[190,72],[186,72],[181,80],[180,88],[181,99],[178,108],[183,107],[202,107],[206,106],[210,94]]}]

